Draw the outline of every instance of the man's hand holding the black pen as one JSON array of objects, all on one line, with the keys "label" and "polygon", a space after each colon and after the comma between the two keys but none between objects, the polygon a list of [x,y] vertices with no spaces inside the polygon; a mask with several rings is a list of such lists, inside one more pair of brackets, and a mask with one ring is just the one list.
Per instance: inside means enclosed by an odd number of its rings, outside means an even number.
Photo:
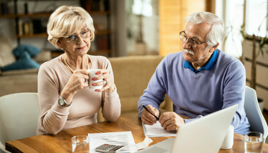
[{"label": "man's hand holding the black pen", "polygon": [[[154,108],[151,105],[147,105],[146,108],[155,116],[159,116],[159,110]],[[145,110],[145,108],[143,108],[142,113],[141,113],[141,121],[144,124],[148,124],[148,125],[153,125],[154,123],[156,123],[156,118],[150,114],[150,112],[148,112],[147,110]]]}]

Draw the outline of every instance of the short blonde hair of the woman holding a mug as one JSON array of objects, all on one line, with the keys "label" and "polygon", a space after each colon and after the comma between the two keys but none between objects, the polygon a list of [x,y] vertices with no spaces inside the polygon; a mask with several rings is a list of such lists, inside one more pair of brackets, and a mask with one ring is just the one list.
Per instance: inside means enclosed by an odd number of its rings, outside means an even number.
[{"label": "short blonde hair of the woman holding a mug", "polygon": [[93,19],[88,12],[78,5],[58,7],[49,17],[47,23],[47,40],[56,48],[59,38],[73,35],[81,25],[86,25],[91,31],[90,41],[95,38]]}]

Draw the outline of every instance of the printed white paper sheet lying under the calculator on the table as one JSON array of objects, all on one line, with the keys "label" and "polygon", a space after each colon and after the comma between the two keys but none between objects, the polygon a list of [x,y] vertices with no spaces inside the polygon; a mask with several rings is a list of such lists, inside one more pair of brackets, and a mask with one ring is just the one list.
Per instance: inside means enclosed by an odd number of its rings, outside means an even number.
[{"label": "printed white paper sheet lying under the calculator on the table", "polygon": [[136,152],[137,149],[133,149],[135,141],[131,131],[126,132],[107,132],[107,133],[88,133],[90,153],[95,152],[95,148],[102,144],[114,144],[125,146],[120,152]]}]

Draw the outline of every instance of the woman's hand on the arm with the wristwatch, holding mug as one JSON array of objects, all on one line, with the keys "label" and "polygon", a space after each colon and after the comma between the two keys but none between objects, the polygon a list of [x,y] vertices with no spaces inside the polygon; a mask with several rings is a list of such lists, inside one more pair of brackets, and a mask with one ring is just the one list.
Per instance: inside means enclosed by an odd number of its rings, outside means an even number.
[{"label": "woman's hand on the arm with the wristwatch, holding mug", "polygon": [[81,89],[87,88],[89,79],[86,69],[75,70],[74,73],[69,78],[67,84],[64,86],[61,96],[67,101],[71,102],[72,97]]}]

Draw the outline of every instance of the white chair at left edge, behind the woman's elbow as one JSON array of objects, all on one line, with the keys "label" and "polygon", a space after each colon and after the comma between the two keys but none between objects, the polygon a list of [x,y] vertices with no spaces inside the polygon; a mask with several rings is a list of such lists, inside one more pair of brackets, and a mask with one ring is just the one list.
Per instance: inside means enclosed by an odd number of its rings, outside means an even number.
[{"label": "white chair at left edge, behind the woman's elbow", "polygon": [[14,93],[0,97],[0,152],[7,141],[36,135],[40,108],[37,93]]}]

